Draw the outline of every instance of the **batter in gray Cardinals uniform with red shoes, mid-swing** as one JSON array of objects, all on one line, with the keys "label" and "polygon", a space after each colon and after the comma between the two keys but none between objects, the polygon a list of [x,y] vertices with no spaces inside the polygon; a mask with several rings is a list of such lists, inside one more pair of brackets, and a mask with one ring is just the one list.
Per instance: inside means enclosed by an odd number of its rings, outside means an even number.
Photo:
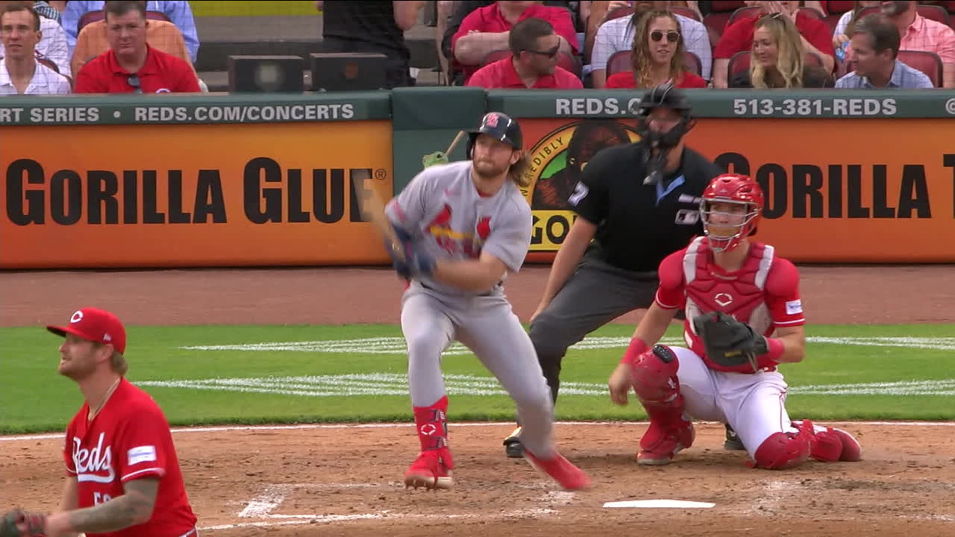
[{"label": "batter in gray Cardinals uniform with red shoes, mid-swing", "polygon": [[527,165],[521,138],[517,121],[487,114],[469,133],[469,161],[426,168],[386,207],[403,247],[403,257],[389,248],[393,266],[411,282],[401,330],[421,453],[405,474],[408,486],[453,484],[441,373],[441,354],[453,340],[471,349],[517,403],[528,462],[564,488],[588,483],[554,447],[550,391],[502,288],[531,239],[530,206],[518,188]]}]

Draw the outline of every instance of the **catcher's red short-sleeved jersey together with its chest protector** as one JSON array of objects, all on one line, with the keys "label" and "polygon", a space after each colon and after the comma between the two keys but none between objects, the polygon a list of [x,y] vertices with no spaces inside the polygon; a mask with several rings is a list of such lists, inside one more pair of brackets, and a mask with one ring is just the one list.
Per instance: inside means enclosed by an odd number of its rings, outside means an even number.
[{"label": "catcher's red short-sleeved jersey together with its chest protector", "polygon": [[801,326],[806,322],[796,266],[776,257],[774,247],[760,243],[750,244],[742,269],[727,272],[713,262],[706,237],[693,239],[689,247],[668,255],[660,264],[656,303],[661,308],[683,308],[687,312],[687,345],[710,369],[717,371],[753,373],[753,368],[749,364],[733,368],[712,362],[703,340],[693,331],[693,317],[722,311],[766,336],[777,327]]}]

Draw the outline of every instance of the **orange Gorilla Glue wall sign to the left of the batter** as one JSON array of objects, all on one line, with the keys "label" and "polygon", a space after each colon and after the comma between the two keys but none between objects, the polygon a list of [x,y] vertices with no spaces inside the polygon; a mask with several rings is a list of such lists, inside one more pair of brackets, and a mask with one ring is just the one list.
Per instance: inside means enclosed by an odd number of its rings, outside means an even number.
[{"label": "orange Gorilla Glue wall sign to the left of the batter", "polygon": [[0,268],[388,261],[359,197],[391,197],[390,121],[18,126],[0,136]]}]

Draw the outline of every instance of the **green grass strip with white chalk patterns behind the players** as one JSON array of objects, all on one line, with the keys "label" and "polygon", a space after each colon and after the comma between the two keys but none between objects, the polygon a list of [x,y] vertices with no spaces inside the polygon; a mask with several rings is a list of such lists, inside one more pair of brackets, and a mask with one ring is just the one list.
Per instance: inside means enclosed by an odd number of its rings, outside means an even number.
[{"label": "green grass strip with white chalk patterns behind the players", "polygon": [[[559,419],[646,418],[639,403],[616,407],[605,395],[631,331],[611,325],[571,349]],[[385,325],[130,327],[128,377],[179,425],[409,420],[400,335]],[[782,367],[794,418],[953,418],[955,325],[813,326],[808,335],[807,359]],[[58,431],[78,409],[74,383],[55,372],[58,345],[42,328],[0,329],[0,433]],[[237,345],[245,350],[183,349]],[[453,347],[444,372],[450,419],[513,419],[472,354]]]}]

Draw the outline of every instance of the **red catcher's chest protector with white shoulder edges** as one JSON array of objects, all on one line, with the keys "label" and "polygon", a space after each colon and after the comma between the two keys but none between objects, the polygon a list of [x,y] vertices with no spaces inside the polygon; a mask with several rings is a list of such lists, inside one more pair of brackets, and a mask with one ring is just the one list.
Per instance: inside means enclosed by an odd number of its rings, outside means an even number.
[{"label": "red catcher's chest protector with white shoulder edges", "polygon": [[773,325],[765,302],[766,277],[773,266],[773,258],[773,247],[751,243],[743,268],[728,279],[712,264],[707,242],[702,237],[694,239],[683,257],[683,277],[687,282],[687,330],[692,331],[693,317],[722,311],[750,325],[756,333],[766,334]]}]

